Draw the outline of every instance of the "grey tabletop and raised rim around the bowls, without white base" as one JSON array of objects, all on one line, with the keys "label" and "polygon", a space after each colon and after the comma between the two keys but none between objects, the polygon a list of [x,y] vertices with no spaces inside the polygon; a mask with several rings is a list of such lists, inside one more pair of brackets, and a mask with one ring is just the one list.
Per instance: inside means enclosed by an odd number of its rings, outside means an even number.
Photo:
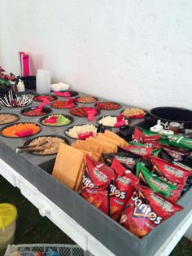
[{"label": "grey tabletop and raised rim around the bowls, without white base", "polygon": [[[80,94],[83,95],[83,94]],[[106,99],[99,99],[106,100]],[[122,108],[127,107],[125,104],[121,104]],[[2,110],[5,110],[2,107]],[[6,111],[5,111],[6,112]],[[13,113],[19,113],[19,109],[13,109]],[[53,113],[68,114],[68,109],[55,110]],[[107,110],[103,111],[103,115],[118,115],[120,110]],[[20,117],[20,121],[27,121],[28,117]],[[29,119],[28,119],[29,120]],[[34,117],[33,121],[37,121],[38,117]],[[74,125],[82,123],[82,117],[76,117]],[[86,118],[85,118],[86,122]],[[93,122],[96,124],[96,121]],[[147,124],[143,119],[134,120],[131,122],[133,125],[141,125],[143,128],[147,128]],[[43,126],[39,135],[63,135],[63,127],[46,127]],[[32,136],[35,137],[37,135]],[[117,256],[123,255],[135,255],[135,256],[152,256],[159,249],[164,241],[168,239],[168,236],[176,229],[177,225],[181,223],[183,218],[192,209],[191,196],[192,188],[188,192],[185,192],[181,199],[178,201],[179,205],[184,207],[184,210],[175,214],[172,218],[169,218],[164,223],[156,227],[147,236],[142,239],[133,236],[128,230],[120,226],[113,219],[103,214],[100,210],[89,204],[76,192],[73,192],[70,188],[60,183],[58,180],[52,177],[51,171],[55,163],[55,156],[34,156],[32,154],[23,153],[15,154],[15,148],[17,146],[24,145],[26,138],[11,139],[0,138],[0,157],[3,161],[7,162],[15,171],[27,179],[29,183],[32,183],[42,194],[44,194],[50,201],[53,201],[55,205],[58,205],[61,210],[71,216],[77,223],[85,228],[91,235],[93,235],[98,241],[103,243],[111,252]],[[70,143],[74,139],[69,139]]]}]

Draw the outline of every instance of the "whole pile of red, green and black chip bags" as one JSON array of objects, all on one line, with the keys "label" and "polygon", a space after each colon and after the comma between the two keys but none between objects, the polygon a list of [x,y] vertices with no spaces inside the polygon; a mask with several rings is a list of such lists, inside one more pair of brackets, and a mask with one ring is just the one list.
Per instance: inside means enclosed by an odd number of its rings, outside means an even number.
[{"label": "whole pile of red, green and black chip bags", "polygon": [[129,145],[103,154],[103,162],[87,157],[81,196],[135,236],[145,236],[182,210],[177,201],[192,185],[186,161],[192,143],[172,137],[136,127]]}]

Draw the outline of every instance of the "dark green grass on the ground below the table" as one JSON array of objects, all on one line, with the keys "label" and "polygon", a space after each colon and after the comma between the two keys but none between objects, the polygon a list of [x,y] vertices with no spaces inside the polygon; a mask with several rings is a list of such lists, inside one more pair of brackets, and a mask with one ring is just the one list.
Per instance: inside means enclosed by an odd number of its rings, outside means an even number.
[{"label": "dark green grass on the ground below the table", "polygon": [[[38,210],[24,196],[18,188],[0,176],[0,203],[7,202],[16,206],[18,210],[17,228],[15,232],[15,245],[18,244],[71,244],[74,243],[59,227],[43,218]],[[4,252],[0,251],[0,256]],[[171,256],[191,256],[192,242],[182,238]]]}]

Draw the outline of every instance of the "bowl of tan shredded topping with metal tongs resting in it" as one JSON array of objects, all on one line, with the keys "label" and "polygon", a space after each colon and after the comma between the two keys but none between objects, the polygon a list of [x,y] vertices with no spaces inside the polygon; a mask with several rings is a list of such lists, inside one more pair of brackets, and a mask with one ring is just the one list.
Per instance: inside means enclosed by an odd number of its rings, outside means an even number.
[{"label": "bowl of tan shredded topping with metal tongs resting in it", "polygon": [[68,139],[59,135],[41,135],[33,139],[28,139],[24,143],[24,148],[26,147],[28,152],[33,155],[51,156],[57,154],[60,143],[68,144]]}]

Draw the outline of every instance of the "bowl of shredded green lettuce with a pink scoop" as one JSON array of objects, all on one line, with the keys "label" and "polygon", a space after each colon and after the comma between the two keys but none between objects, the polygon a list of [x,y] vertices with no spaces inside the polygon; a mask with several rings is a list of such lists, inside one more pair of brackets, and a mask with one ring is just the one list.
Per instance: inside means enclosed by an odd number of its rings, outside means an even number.
[{"label": "bowl of shredded green lettuce with a pink scoop", "polygon": [[68,126],[72,124],[74,118],[69,115],[51,114],[46,117],[41,117],[39,122],[43,126]]}]

